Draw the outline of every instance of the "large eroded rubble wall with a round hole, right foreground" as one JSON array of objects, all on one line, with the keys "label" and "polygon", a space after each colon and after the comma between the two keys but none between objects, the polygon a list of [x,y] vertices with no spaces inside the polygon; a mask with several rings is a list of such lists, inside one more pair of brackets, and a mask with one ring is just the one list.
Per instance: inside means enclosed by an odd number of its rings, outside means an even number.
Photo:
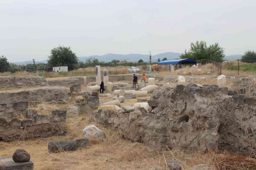
[{"label": "large eroded rubble wall with a round hole, right foreground", "polygon": [[[114,127],[126,139],[154,149],[172,146],[183,150],[227,149],[250,152],[256,148],[256,97],[229,96],[217,85],[178,85],[152,93],[149,109],[134,113],[100,113],[90,120]],[[107,112],[107,111],[105,111]],[[132,114],[132,115],[130,115]],[[110,117],[111,116],[111,117]],[[129,119],[130,117],[130,119]],[[108,121],[102,121],[108,120]]]}]

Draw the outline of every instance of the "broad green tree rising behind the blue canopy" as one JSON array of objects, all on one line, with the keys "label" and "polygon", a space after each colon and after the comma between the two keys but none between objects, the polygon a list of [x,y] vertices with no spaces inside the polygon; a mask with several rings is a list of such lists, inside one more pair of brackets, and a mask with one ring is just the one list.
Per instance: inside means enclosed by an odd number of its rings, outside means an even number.
[{"label": "broad green tree rising behind the blue canopy", "polygon": [[190,49],[185,50],[180,57],[181,59],[196,59],[198,62],[206,60],[221,62],[225,54],[224,48],[220,47],[218,42],[207,47],[205,41],[197,41],[196,43],[191,42]]}]

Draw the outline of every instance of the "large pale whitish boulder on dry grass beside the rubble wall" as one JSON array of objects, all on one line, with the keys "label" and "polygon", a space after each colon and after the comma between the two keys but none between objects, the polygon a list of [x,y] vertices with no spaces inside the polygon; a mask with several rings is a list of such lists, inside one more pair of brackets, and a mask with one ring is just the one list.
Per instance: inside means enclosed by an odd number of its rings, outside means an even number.
[{"label": "large pale whitish boulder on dry grass beside the rubble wall", "polygon": [[83,129],[83,136],[88,138],[97,137],[101,140],[105,139],[105,133],[95,125],[86,126]]}]

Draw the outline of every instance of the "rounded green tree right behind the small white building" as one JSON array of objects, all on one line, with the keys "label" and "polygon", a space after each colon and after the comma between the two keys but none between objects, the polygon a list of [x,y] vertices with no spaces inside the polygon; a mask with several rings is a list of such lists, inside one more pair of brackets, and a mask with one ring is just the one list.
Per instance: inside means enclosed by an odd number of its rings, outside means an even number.
[{"label": "rounded green tree right behind the small white building", "polygon": [[76,54],[70,47],[59,45],[51,50],[51,55],[48,56],[48,64],[51,66],[68,66],[69,70],[73,70],[75,64],[78,63]]}]

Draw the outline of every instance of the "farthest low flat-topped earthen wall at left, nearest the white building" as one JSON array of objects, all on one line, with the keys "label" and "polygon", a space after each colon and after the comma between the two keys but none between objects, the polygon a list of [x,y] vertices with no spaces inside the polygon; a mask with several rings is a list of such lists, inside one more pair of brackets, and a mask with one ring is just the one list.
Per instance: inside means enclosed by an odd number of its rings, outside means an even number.
[{"label": "farthest low flat-topped earthen wall at left, nearest the white building", "polygon": [[6,76],[0,77],[0,87],[21,88],[47,85],[45,77],[39,76]]}]

